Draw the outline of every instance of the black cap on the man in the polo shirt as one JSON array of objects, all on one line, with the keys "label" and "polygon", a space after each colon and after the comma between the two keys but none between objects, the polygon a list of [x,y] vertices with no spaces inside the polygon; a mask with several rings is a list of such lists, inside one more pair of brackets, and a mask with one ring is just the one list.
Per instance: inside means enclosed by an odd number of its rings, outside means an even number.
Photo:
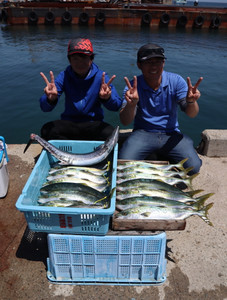
[{"label": "black cap on the man in the polo shirt", "polygon": [[149,58],[160,57],[166,59],[164,55],[164,49],[156,44],[146,44],[137,52],[137,61],[143,62]]}]

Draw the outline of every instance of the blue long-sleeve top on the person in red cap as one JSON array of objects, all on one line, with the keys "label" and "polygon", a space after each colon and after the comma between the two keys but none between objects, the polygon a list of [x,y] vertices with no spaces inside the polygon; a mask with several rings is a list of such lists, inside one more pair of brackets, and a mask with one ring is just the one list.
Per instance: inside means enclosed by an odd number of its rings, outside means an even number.
[{"label": "blue long-sleeve top on the person in red cap", "polygon": [[[40,98],[40,107],[42,111],[52,111],[57,105],[62,93],[65,93],[65,110],[61,114],[62,120],[74,122],[103,121],[104,112],[102,104],[111,111],[118,111],[122,105],[115,87],[111,85],[111,97],[107,101],[99,98],[99,91],[102,83],[102,74],[98,66],[92,63],[89,74],[85,79],[81,79],[72,70],[69,65],[65,71],[62,71],[55,79],[55,85],[58,90],[58,100],[55,104],[50,104],[47,96],[44,94]],[[109,77],[105,75],[105,82]]]}]

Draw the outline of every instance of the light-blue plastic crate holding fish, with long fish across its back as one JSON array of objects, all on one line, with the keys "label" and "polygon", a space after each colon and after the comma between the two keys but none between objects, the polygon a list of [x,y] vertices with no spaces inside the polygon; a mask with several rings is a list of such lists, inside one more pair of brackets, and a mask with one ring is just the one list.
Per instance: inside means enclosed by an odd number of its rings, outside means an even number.
[{"label": "light-blue plastic crate holding fish, with long fish across its back", "polygon": [[[54,140],[50,143],[67,152],[88,153],[94,151],[94,148],[103,142]],[[111,189],[116,187],[117,150],[118,145],[108,157],[112,160]],[[110,217],[115,211],[116,191],[111,196],[110,207],[106,209],[45,207],[37,203],[40,188],[46,180],[50,167],[55,162],[55,157],[45,150],[42,151],[16,202],[16,208],[24,213],[29,229],[48,233],[106,234]]]}]

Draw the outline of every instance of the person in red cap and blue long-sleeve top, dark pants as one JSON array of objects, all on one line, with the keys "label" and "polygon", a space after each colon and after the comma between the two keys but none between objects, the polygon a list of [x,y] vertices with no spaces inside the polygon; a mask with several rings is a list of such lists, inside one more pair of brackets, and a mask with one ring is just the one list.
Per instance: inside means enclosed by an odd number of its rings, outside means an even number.
[{"label": "person in red cap and blue long-sleeve top, dark pants", "polygon": [[61,120],[51,121],[41,129],[46,139],[106,140],[113,127],[104,122],[102,105],[108,110],[118,111],[122,105],[110,79],[93,62],[93,46],[89,39],[78,38],[68,44],[70,65],[56,80],[50,71],[50,82],[41,72],[46,83],[45,94],[40,98],[44,112],[52,111],[65,93],[65,110]]}]

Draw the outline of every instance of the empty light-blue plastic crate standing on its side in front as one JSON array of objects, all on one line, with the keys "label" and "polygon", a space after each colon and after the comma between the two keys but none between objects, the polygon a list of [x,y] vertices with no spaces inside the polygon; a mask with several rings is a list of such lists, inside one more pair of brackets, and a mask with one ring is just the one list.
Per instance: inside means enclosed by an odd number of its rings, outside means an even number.
[{"label": "empty light-blue plastic crate standing on its side in front", "polygon": [[158,285],[166,280],[166,234],[48,235],[47,277],[54,283]]}]

